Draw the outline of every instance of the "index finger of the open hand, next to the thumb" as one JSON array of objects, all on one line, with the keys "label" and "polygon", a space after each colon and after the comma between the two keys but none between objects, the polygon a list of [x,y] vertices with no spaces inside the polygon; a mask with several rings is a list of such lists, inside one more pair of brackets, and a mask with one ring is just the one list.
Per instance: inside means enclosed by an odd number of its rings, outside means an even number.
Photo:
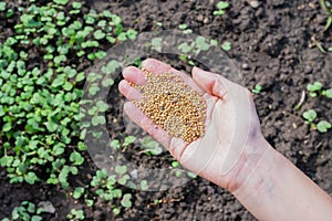
[{"label": "index finger of the open hand, next to the thumb", "polygon": [[155,59],[146,59],[142,62],[142,66],[146,69],[147,71],[154,73],[154,74],[163,74],[165,72],[172,72],[183,78],[183,81],[189,86],[195,90],[198,93],[203,93],[204,91],[193,81],[193,78],[180,71],[177,71],[176,69],[173,69],[170,65],[165,64],[158,60]]}]

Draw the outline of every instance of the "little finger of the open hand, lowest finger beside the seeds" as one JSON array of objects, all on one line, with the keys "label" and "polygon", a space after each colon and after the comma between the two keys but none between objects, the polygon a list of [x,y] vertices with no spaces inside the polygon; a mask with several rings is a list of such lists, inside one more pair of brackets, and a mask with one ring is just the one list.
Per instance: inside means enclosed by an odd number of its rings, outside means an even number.
[{"label": "little finger of the open hand, lowest finger beside the seeds", "polygon": [[124,112],[135,124],[169,150],[170,137],[167,131],[155,125],[136,105],[132,102],[125,103]]}]

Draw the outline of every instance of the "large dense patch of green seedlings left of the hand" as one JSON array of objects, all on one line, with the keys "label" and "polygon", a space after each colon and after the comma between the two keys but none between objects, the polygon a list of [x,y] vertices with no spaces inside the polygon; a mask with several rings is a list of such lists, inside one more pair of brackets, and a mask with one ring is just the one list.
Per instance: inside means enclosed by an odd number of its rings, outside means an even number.
[{"label": "large dense patch of green seedlings left of the hand", "polygon": [[[80,131],[83,83],[98,77],[85,73],[80,63],[92,65],[104,57],[105,41],[111,45],[136,38],[135,30],[124,30],[118,15],[83,13],[83,4],[68,0],[15,4],[20,10],[14,33],[0,43],[0,166],[10,182],[46,181],[69,188],[68,178],[79,173],[86,151]],[[2,11],[10,17],[6,2],[0,2]],[[108,75],[118,67],[110,61],[102,71]],[[113,83],[108,77],[101,86]],[[90,93],[98,87],[92,86]],[[96,102],[92,122],[84,126],[104,124],[100,113],[106,109],[104,102]]]}]

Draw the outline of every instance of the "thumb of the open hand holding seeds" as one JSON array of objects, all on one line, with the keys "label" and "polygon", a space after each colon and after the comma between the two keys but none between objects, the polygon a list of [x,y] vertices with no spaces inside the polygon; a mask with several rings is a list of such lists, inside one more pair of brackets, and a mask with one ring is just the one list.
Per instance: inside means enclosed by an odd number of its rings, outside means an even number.
[{"label": "thumb of the open hand holding seeds", "polygon": [[228,93],[227,85],[229,85],[230,82],[224,76],[206,72],[197,66],[194,66],[191,73],[196,84],[205,92],[218,96],[219,98],[225,97]]}]

